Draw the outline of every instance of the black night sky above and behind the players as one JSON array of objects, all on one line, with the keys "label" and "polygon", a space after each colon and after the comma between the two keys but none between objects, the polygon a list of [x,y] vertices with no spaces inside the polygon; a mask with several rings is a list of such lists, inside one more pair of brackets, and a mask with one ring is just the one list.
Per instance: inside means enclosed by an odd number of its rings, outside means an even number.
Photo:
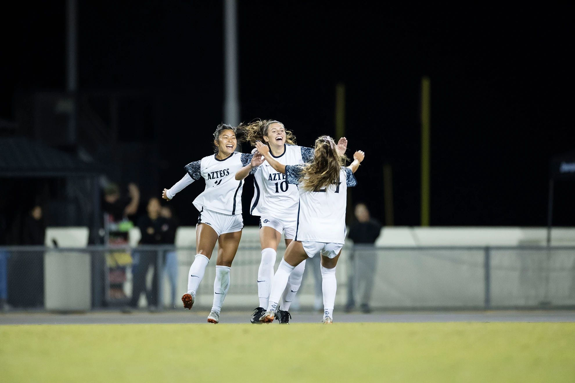
[{"label": "black night sky above and behind the players", "polygon": [[[222,118],[221,2],[79,3],[79,87],[162,95],[154,138],[170,187],[210,153]],[[64,2],[16,6],[2,12],[4,119],[17,92],[64,87]],[[334,86],[345,83],[350,149],[366,152],[354,201],[383,220],[390,163],[396,225],[419,225],[419,88],[430,76],[432,225],[543,226],[549,158],[575,149],[572,15],[239,1],[241,118],[278,119],[310,146],[333,134]],[[174,200],[183,223],[203,187]],[[575,225],[573,195],[573,183],[557,185],[558,225]]]}]

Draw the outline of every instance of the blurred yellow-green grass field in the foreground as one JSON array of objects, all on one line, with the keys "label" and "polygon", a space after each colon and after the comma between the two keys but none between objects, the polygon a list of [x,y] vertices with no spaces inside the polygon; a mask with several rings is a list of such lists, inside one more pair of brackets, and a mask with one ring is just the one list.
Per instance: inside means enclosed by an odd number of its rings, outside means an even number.
[{"label": "blurred yellow-green grass field in the foreground", "polygon": [[575,323],[0,326],[2,382],[573,382]]}]

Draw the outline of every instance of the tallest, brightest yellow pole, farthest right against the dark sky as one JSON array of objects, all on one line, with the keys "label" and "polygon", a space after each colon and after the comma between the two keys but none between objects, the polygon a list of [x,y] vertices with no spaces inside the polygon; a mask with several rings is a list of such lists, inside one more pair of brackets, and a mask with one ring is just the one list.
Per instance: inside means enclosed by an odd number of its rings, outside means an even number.
[{"label": "tallest, brightest yellow pole, farthest right against the dark sky", "polygon": [[430,226],[431,82],[421,79],[421,226]]}]

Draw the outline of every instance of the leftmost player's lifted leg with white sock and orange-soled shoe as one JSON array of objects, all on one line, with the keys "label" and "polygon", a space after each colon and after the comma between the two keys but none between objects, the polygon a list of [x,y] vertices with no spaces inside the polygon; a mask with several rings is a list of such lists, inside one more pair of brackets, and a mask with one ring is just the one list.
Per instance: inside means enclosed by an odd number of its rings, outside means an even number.
[{"label": "leftmost player's lifted leg with white sock and orange-soled shoe", "polygon": [[206,265],[212,257],[212,252],[217,241],[216,231],[205,223],[200,223],[196,229],[196,260],[190,267],[188,276],[187,293],[182,295],[183,307],[191,310],[196,300],[196,290],[202,278]]}]

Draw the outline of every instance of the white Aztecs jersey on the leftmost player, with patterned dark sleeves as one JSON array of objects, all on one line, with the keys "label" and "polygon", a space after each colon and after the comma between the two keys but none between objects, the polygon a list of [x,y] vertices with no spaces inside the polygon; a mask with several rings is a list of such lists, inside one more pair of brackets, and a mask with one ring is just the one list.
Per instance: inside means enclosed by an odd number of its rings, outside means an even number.
[{"label": "white Aztecs jersey on the leftmost player, with patterned dark sleeves", "polygon": [[221,214],[241,214],[241,191],[243,181],[235,179],[236,172],[251,162],[252,154],[234,152],[224,160],[218,160],[216,154],[186,165],[187,175],[167,191],[168,198],[204,177],[206,188],[194,199],[198,211],[202,207]]}]

